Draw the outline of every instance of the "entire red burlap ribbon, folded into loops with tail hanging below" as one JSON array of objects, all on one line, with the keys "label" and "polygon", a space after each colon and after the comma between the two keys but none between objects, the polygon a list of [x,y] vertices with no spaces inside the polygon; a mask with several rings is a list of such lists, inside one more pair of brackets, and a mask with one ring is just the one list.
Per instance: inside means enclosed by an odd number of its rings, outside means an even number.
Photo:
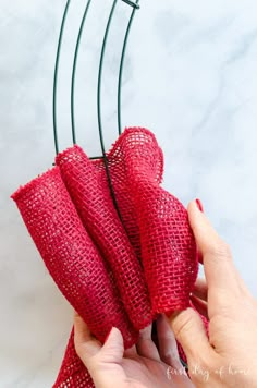
[{"label": "entire red burlap ribbon, folded into loops with tail hanging below", "polygon": [[[126,129],[103,160],[74,146],[13,194],[57,286],[103,341],[112,326],[134,344],[158,313],[189,305],[197,253],[183,205],[160,183],[163,156],[148,130]],[[94,387],[73,332],[56,388]]]}]

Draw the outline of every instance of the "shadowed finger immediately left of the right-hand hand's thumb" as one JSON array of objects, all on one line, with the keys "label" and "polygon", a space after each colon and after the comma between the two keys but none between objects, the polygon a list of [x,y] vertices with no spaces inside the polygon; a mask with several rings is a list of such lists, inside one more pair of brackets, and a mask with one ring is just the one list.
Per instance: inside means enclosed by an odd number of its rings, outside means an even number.
[{"label": "shadowed finger immediately left of the right-hand hand's thumb", "polygon": [[171,330],[168,318],[161,314],[157,319],[157,332],[159,343],[159,354],[161,361],[174,368],[181,367],[180,355],[176,347],[176,340]]}]

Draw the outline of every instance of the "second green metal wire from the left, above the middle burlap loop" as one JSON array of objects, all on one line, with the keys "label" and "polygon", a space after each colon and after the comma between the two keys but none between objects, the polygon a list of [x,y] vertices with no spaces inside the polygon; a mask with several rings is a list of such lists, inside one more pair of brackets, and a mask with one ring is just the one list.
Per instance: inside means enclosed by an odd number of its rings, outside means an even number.
[{"label": "second green metal wire from the left, above the middle burlap loop", "polygon": [[82,34],[84,31],[84,26],[85,26],[85,22],[86,22],[86,17],[88,14],[88,10],[90,7],[91,0],[87,1],[83,17],[82,17],[82,22],[81,22],[81,26],[79,26],[79,31],[78,31],[78,35],[77,35],[77,40],[76,40],[76,48],[75,48],[75,53],[74,53],[74,60],[73,60],[73,68],[72,68],[72,86],[71,86],[71,121],[72,121],[72,140],[73,140],[73,144],[76,144],[76,128],[75,128],[75,108],[74,108],[74,102],[75,102],[75,98],[74,98],[74,92],[75,92],[75,80],[76,80],[76,65],[77,65],[77,57],[78,57],[78,51],[79,51],[79,47],[81,47],[81,40],[82,40]]}]

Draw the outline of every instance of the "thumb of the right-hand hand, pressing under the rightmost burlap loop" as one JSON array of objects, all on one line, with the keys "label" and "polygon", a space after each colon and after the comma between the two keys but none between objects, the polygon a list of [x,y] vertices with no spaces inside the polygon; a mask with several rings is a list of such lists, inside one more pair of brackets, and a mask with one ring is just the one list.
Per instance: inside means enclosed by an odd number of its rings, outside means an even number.
[{"label": "thumb of the right-hand hand, pressing under the rightmost burlap loop", "polygon": [[[209,357],[212,348],[200,316],[191,307],[169,317],[176,340],[182,345],[188,365],[200,363]],[[201,360],[199,360],[199,357]]]}]

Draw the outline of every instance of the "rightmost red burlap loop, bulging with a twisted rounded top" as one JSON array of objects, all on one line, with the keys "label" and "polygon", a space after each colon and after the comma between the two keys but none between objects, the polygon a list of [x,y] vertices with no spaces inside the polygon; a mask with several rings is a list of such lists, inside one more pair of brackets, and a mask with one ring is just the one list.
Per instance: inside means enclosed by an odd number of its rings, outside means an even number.
[{"label": "rightmost red burlap loop, bulging with a twisted rounded top", "polygon": [[108,160],[122,219],[140,248],[152,311],[187,307],[198,269],[196,245],[186,209],[160,187],[163,156],[155,136],[144,129],[126,130]]}]

